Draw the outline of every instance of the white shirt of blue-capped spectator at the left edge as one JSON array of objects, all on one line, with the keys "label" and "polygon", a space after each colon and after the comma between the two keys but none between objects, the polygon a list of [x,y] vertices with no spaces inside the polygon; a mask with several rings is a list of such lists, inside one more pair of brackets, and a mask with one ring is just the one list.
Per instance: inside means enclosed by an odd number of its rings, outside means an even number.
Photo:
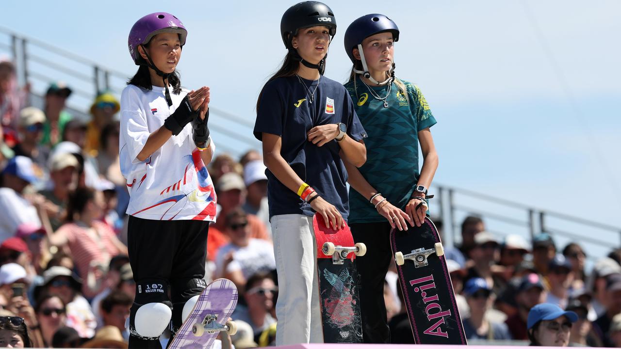
[{"label": "white shirt of blue-capped spectator at the left edge", "polygon": [[41,225],[37,209],[11,188],[0,188],[0,243],[14,237],[22,223]]}]

